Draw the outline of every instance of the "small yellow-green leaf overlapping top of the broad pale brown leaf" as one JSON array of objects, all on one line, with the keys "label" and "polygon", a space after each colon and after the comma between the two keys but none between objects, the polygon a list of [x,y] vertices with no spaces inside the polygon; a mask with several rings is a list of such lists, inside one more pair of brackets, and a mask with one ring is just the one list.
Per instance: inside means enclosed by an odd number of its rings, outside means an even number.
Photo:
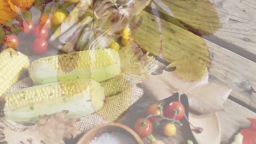
[{"label": "small yellow-green leaf overlapping top of the broad pale brown leaf", "polygon": [[173,74],[185,81],[200,81],[208,73],[206,65],[197,56],[182,59],[167,66],[167,68],[172,67],[176,67]]}]

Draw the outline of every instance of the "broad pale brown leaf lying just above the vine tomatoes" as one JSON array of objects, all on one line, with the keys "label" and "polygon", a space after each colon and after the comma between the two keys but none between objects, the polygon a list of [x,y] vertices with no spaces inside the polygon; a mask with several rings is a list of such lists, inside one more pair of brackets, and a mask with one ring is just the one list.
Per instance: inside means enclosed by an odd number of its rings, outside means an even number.
[{"label": "broad pale brown leaf lying just above the vine tomatoes", "polygon": [[200,113],[223,110],[223,104],[231,92],[229,88],[208,82],[208,74],[201,81],[187,82],[168,71],[160,75],[149,75],[142,86],[157,100],[174,93],[186,94],[190,109]]}]

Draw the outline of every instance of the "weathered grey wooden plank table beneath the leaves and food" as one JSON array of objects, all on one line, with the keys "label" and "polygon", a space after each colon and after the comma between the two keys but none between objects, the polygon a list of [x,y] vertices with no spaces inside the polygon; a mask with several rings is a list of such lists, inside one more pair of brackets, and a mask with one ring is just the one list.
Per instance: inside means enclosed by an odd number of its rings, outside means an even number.
[{"label": "weathered grey wooden plank table beneath the leaves and food", "polygon": [[[232,88],[224,104],[224,111],[217,112],[221,128],[221,143],[231,143],[234,135],[249,125],[247,117],[256,118],[256,97],[250,91],[256,85],[256,1],[254,0],[212,0],[217,7],[223,27],[206,38],[211,55],[209,69],[211,82]],[[235,11],[237,10],[237,11]],[[152,32],[154,33],[154,31]],[[230,47],[234,47],[231,49]],[[158,74],[166,65],[160,64]],[[132,127],[136,119],[145,117],[147,106],[155,103],[144,95],[119,122]],[[166,143],[185,143],[193,140],[188,123],[178,129],[173,137],[154,132],[156,139]],[[144,140],[149,143],[148,140]]]}]

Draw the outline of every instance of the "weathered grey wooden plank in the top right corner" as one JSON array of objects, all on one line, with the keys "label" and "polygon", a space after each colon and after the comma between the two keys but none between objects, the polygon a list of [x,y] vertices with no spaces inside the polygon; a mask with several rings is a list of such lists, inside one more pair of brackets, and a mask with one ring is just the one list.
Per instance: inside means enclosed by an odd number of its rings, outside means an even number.
[{"label": "weathered grey wooden plank in the top right corner", "polygon": [[223,27],[213,35],[256,56],[256,1],[211,0],[211,2],[223,24]]}]

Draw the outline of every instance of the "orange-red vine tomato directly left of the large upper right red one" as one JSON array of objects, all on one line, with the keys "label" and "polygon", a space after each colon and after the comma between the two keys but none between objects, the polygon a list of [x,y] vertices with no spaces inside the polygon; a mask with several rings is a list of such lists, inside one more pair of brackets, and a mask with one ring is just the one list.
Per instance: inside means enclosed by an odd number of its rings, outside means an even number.
[{"label": "orange-red vine tomato directly left of the large upper right red one", "polygon": [[[152,104],[148,107],[147,115],[153,116],[164,116],[163,106],[162,104]],[[162,119],[156,117],[150,117],[149,120],[154,123],[156,121],[162,121]]]}]

